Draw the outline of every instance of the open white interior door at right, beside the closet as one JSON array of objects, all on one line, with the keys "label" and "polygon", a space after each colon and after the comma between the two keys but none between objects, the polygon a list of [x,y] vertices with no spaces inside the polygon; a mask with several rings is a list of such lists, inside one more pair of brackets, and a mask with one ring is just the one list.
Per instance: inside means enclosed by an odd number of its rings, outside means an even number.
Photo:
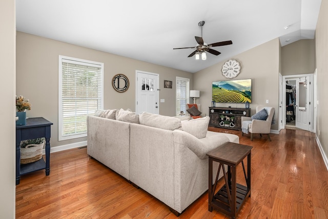
[{"label": "open white interior door at right, beside the closet", "polygon": [[296,79],[296,128],[310,130],[310,77]]}]

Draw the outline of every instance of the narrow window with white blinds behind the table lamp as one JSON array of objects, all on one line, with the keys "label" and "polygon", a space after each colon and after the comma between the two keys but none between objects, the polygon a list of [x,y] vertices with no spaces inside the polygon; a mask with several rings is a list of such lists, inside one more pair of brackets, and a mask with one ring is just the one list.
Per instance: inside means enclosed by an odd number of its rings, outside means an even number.
[{"label": "narrow window with white blinds behind the table lamp", "polygon": [[189,78],[176,77],[176,115],[181,111],[186,113],[186,104],[189,104]]}]

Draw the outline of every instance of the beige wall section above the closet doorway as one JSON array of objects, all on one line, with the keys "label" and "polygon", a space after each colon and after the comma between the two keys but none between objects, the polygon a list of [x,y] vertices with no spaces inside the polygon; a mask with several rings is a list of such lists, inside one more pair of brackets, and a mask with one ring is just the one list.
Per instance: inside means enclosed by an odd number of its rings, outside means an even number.
[{"label": "beige wall section above the closet doorway", "polygon": [[281,74],[309,74],[315,70],[315,41],[301,39],[281,48]]}]

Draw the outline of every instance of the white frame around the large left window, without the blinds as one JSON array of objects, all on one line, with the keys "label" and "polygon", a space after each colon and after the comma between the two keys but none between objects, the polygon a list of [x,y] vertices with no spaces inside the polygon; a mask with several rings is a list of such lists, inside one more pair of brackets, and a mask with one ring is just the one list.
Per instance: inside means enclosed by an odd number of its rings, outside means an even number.
[{"label": "white frame around the large left window, without the blinds", "polygon": [[[85,132],[75,132],[72,134],[63,135],[63,60],[67,61],[67,63],[77,64],[77,65],[85,65],[90,67],[100,67],[100,82],[98,82],[98,94],[100,94],[100,106],[97,106],[97,109],[104,109],[104,63],[89,61],[86,59],[74,58],[64,55],[58,56],[58,141],[71,140],[80,137],[86,137],[87,131]],[[99,85],[100,84],[100,85]],[[75,110],[76,112],[76,110]],[[87,115],[94,115],[94,111],[92,113],[87,112]],[[77,122],[75,120],[75,122]]]}]

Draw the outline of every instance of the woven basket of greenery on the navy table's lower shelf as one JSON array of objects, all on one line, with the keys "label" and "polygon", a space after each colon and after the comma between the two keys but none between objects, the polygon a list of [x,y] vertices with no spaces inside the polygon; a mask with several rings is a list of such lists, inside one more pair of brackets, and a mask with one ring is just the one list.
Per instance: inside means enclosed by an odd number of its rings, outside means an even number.
[{"label": "woven basket of greenery on the navy table's lower shelf", "polygon": [[44,144],[44,137],[20,142],[20,164],[28,164],[40,160]]}]

